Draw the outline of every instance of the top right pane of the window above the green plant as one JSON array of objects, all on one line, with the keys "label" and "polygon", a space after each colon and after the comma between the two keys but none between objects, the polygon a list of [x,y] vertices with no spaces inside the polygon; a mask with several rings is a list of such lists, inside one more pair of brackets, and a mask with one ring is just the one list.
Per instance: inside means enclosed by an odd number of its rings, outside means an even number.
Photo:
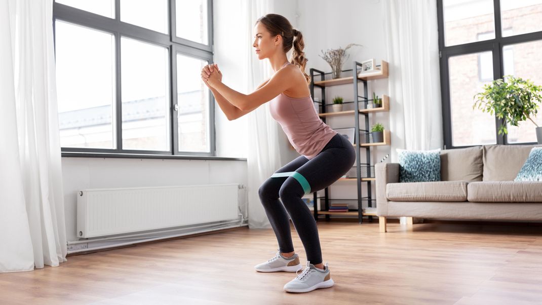
[{"label": "top right pane of the window above the green plant", "polygon": [[542,31],[541,19],[542,0],[501,0],[502,36]]}]

